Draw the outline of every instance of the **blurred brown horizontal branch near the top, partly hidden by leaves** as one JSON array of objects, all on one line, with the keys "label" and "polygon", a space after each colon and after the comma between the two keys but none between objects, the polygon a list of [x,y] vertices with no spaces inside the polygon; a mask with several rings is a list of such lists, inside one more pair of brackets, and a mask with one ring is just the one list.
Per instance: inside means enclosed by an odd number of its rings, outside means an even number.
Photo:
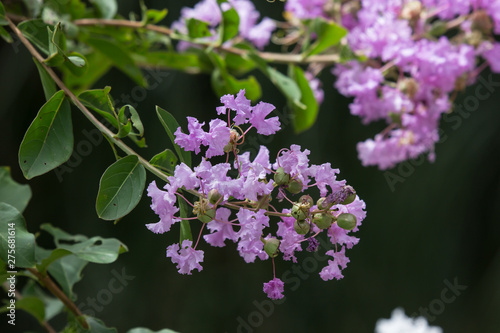
[{"label": "blurred brown horizontal branch near the top, partly hidden by leaves", "polygon": [[[73,21],[74,24],[78,26],[93,26],[93,25],[104,25],[111,27],[126,27],[131,29],[146,29],[150,31],[155,31],[162,35],[169,37],[175,37],[174,31],[166,27],[160,27],[152,24],[144,25],[142,22],[128,21],[128,20],[113,20],[113,19],[80,19]],[[238,49],[231,46],[214,46],[210,43],[199,43],[200,45],[206,47],[213,47],[217,50],[233,53],[240,56],[246,56],[249,54],[248,51]],[[309,64],[309,63],[324,63],[333,64],[339,62],[340,57],[337,54],[321,54],[313,55],[310,57],[304,57],[301,54],[284,54],[284,53],[273,53],[273,52],[257,52],[257,54],[264,60],[273,63],[282,64]]]}]

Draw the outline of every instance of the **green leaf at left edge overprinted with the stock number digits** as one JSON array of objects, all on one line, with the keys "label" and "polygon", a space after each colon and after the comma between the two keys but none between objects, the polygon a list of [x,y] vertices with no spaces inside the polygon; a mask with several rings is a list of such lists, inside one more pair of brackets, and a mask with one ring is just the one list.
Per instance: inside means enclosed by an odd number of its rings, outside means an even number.
[{"label": "green leaf at left edge overprinted with the stock number digits", "polygon": [[[13,270],[14,266],[35,267],[35,236],[26,229],[26,222],[21,213],[13,206],[0,202],[0,221],[2,221],[0,223],[0,258],[7,263],[8,269]],[[15,239],[15,245],[12,245],[9,239]]]}]

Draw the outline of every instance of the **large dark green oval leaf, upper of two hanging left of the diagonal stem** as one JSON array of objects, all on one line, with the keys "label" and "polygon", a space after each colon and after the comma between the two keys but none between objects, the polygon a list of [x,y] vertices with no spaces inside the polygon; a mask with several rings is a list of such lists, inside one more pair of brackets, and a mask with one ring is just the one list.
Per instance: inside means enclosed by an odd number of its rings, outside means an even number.
[{"label": "large dark green oval leaf, upper of two hanging left of the diagonal stem", "polygon": [[71,109],[64,92],[47,101],[24,135],[19,148],[19,165],[31,179],[66,162],[73,151]]}]

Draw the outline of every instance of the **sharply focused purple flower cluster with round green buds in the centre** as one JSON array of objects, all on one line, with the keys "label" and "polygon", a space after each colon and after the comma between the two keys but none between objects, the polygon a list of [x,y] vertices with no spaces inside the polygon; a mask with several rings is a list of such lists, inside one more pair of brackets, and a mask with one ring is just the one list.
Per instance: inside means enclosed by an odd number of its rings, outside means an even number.
[{"label": "sharply focused purple flower cluster with round green buds in the centre", "polygon": [[[164,233],[181,220],[202,223],[194,246],[184,240],[167,249],[167,257],[181,274],[202,270],[204,253],[197,247],[205,229],[208,233],[203,239],[207,244],[224,247],[228,240],[235,242],[247,263],[271,259],[273,279],[264,284],[264,292],[272,299],[282,298],[284,291],[283,282],[275,274],[274,258],[281,254],[284,260],[297,262],[296,252],[303,248],[317,251],[318,239],[333,244],[326,251],[332,259],[319,273],[321,278],[342,278],[349,262],[345,251],[359,241],[350,233],[357,231],[365,218],[365,203],[344,180],[337,180],[338,169],[330,163],[310,164],[310,152],[298,145],[280,150],[273,161],[264,146],[253,159],[249,152],[240,153],[239,146],[250,131],[274,134],[280,129],[279,119],[269,116],[274,110],[271,104],[252,106],[244,90],[236,96],[223,96],[221,102],[217,113],[227,121],[213,119],[206,131],[204,123],[188,117],[188,132],[180,128],[175,132],[180,147],[201,154],[203,159],[194,168],[178,165],[163,190],[155,182],[149,185],[151,208],[160,221],[147,228]],[[226,155],[226,161],[212,163],[211,158],[219,155]],[[234,157],[232,163],[230,156]],[[313,188],[319,193],[318,200],[304,193]],[[194,196],[194,202],[185,197],[186,192]],[[274,199],[284,206],[281,210],[275,207]],[[178,200],[191,206],[194,217],[179,214]]]}]

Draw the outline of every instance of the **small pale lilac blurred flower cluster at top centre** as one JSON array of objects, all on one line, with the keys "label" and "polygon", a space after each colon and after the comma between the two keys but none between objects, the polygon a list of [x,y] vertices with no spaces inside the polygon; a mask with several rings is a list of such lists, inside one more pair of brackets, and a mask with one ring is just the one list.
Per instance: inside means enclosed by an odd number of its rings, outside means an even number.
[{"label": "small pale lilac blurred flower cluster at top centre", "polygon": [[[258,48],[266,46],[276,25],[273,20],[267,17],[258,22],[260,14],[250,0],[229,0],[222,3],[221,7],[219,7],[217,0],[202,0],[194,8],[184,7],[180,19],[173,23],[172,28],[186,34],[186,22],[188,19],[193,18],[207,22],[211,29],[212,39],[216,38],[215,29],[222,21],[222,11],[226,11],[231,7],[236,10],[239,16],[239,36],[250,41]],[[184,50],[189,46],[192,46],[192,44],[182,42],[179,44],[179,49]]]}]

